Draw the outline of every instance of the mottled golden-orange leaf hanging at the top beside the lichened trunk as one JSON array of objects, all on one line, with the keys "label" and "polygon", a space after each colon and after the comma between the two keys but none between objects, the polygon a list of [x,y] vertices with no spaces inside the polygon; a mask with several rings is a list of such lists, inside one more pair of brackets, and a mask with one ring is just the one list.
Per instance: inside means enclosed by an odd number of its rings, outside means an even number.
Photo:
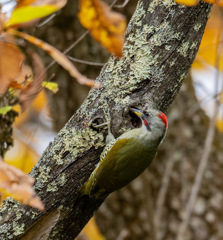
[{"label": "mottled golden-orange leaf hanging at the top beside the lichened trunk", "polygon": [[121,57],[126,29],[123,15],[112,11],[101,0],[80,0],[78,17],[98,42],[109,52]]}]

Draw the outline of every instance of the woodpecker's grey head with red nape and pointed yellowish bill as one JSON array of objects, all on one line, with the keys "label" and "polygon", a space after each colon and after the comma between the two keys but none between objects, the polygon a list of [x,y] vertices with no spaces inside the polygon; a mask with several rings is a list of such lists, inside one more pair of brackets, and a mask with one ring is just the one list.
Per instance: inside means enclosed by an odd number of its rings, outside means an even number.
[{"label": "woodpecker's grey head with red nape and pointed yellowish bill", "polygon": [[148,109],[144,112],[137,108],[130,108],[142,121],[142,127],[148,131],[160,130],[165,134],[168,123],[166,115],[156,109]]}]

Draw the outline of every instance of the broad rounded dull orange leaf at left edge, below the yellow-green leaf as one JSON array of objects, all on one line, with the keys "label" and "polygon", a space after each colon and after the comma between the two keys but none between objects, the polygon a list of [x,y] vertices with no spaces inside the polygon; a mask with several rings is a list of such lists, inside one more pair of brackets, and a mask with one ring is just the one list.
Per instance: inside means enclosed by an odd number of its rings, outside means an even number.
[{"label": "broad rounded dull orange leaf at left edge, below the yellow-green leaf", "polygon": [[0,40],[0,95],[4,94],[11,81],[21,74],[22,64],[25,60],[19,48],[11,42]]}]

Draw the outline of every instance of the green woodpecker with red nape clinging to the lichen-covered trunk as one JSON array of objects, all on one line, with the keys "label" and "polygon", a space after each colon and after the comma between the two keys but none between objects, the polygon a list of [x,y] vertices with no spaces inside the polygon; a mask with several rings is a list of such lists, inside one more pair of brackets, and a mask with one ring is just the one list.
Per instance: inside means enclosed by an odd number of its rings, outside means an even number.
[{"label": "green woodpecker with red nape clinging to the lichen-covered trunk", "polygon": [[100,198],[124,187],[156,156],[167,129],[166,115],[155,109],[142,112],[131,108],[131,111],[141,119],[142,126],[113,138],[105,146],[98,165],[80,188],[81,196]]}]

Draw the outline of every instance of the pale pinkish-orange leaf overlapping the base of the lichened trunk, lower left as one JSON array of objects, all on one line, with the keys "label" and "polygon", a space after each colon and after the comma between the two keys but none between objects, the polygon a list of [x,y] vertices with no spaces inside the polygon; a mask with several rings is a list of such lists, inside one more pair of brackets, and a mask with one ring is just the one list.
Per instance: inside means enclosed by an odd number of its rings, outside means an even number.
[{"label": "pale pinkish-orange leaf overlapping the base of the lichened trunk, lower left", "polygon": [[34,179],[31,176],[0,159],[0,190],[15,200],[42,211],[44,206],[40,198],[35,195],[33,184]]}]

